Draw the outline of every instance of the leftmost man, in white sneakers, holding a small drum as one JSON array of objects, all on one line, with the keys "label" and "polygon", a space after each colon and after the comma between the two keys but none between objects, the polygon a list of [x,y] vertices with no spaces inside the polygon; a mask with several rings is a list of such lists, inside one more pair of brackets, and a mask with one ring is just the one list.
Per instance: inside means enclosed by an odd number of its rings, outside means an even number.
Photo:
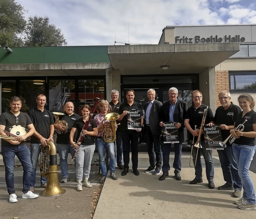
[{"label": "leftmost man, in white sneakers, holding a small drum", "polygon": [[11,98],[11,110],[0,115],[0,134],[6,135],[4,131],[10,131],[13,126],[20,125],[28,127],[28,133],[19,135],[16,139],[4,139],[2,141],[2,156],[5,166],[5,181],[9,193],[9,202],[17,202],[17,196],[14,190],[14,157],[15,155],[20,160],[23,167],[23,189],[22,199],[35,199],[38,195],[30,191],[30,179],[32,164],[30,160],[30,151],[24,141],[27,137],[35,132],[34,125],[26,113],[20,112],[20,98],[14,96]]}]

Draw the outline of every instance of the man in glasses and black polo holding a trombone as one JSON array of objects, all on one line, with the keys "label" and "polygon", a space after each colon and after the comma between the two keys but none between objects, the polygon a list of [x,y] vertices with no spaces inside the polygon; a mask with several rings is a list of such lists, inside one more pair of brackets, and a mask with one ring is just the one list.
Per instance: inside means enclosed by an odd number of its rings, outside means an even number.
[{"label": "man in glasses and black polo holding a trombone", "polygon": [[[185,122],[184,122],[186,128],[190,132],[190,140],[192,144],[196,143],[196,140],[198,139],[198,133],[202,123],[204,110],[207,108],[206,105],[202,104],[202,100],[203,100],[202,93],[199,90],[194,90],[192,92],[192,101],[194,103],[194,106],[191,106],[190,108],[188,108]],[[214,121],[214,116],[213,116],[212,110],[210,109],[210,107],[208,107],[205,124],[213,123],[213,121]],[[197,127],[197,129],[195,127]],[[202,145],[203,148],[193,147],[192,149],[193,162],[194,164],[196,162],[196,166],[195,166],[196,177],[192,181],[190,181],[189,184],[197,184],[197,183],[203,182],[202,163],[201,163],[201,151],[202,151],[204,156],[204,161],[205,161],[205,167],[206,167],[206,178],[208,180],[208,188],[214,189],[215,185],[213,182],[214,166],[212,161],[212,150],[206,150],[206,148],[204,148],[203,134],[199,138],[200,138],[199,139],[200,144]],[[195,142],[193,142],[193,139]],[[196,161],[197,153],[198,153],[198,156]]]}]

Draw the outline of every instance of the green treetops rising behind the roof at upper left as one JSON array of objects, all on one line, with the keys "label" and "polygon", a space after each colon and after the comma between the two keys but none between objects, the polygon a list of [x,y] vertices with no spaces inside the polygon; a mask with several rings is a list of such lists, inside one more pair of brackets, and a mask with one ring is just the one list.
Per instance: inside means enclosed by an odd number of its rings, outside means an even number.
[{"label": "green treetops rising behind the roof at upper left", "polygon": [[0,47],[6,46],[66,46],[61,29],[50,24],[48,17],[30,16],[15,0],[0,0]]}]

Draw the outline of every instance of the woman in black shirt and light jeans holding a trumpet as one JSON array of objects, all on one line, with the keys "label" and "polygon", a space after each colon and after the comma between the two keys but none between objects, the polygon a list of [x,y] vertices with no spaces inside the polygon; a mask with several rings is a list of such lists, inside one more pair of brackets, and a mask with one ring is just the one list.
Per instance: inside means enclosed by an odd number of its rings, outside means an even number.
[{"label": "woman in black shirt and light jeans holding a trumpet", "polygon": [[[230,133],[234,140],[232,149],[244,192],[242,198],[235,201],[235,204],[243,210],[256,210],[254,185],[249,174],[256,145],[256,112],[253,110],[255,102],[250,94],[241,94],[238,102],[243,111],[236,115],[235,129],[230,130]],[[243,127],[243,130],[242,128],[236,129],[238,126]]]}]

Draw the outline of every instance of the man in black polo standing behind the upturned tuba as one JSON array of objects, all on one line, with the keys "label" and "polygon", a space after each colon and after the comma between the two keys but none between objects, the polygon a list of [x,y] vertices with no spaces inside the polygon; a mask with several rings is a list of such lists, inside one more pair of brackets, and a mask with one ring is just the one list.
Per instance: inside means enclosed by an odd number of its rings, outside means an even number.
[{"label": "man in black polo standing behind the upturned tuba", "polygon": [[[30,181],[30,191],[34,191],[36,183],[36,165],[41,151],[41,145],[46,145],[46,141],[53,141],[54,120],[50,111],[44,109],[46,96],[39,94],[36,98],[37,107],[30,110],[28,115],[36,129],[30,139],[30,153],[32,163],[32,175]],[[47,177],[41,175],[41,187],[47,185]]]}]

